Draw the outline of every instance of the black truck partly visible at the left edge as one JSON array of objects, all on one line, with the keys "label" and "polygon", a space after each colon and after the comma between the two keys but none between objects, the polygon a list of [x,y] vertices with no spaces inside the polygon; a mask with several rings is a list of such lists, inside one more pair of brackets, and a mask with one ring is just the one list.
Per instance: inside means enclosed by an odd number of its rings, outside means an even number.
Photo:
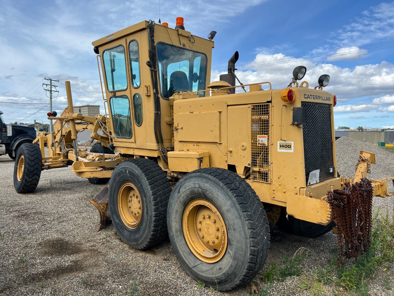
[{"label": "black truck partly visible at the left edge", "polygon": [[0,111],[0,155],[8,154],[15,160],[17,150],[24,143],[32,143],[37,137],[34,127],[6,124]]}]

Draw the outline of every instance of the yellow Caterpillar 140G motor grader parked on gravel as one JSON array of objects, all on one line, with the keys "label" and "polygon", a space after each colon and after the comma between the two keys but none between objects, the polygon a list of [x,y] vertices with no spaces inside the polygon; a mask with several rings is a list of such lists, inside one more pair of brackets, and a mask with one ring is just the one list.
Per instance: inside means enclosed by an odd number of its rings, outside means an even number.
[{"label": "yellow Caterpillar 140G motor grader parked on gravel", "polygon": [[[309,88],[299,66],[285,88],[236,86],[236,52],[228,73],[211,82],[215,34],[195,36],[179,18],[175,28],[143,21],[94,41],[106,114],[75,113],[66,81],[68,107],[49,114],[53,133],[19,149],[14,186],[33,192],[42,170],[69,165],[92,183],[110,180],[91,201],[100,227],[111,220],[141,250],[169,236],[191,277],[230,290],[262,268],[270,227],[309,237],[335,224],[344,231],[339,216],[349,209],[338,206],[338,196],[359,188],[375,159],[361,152],[355,178],[338,175],[336,96],[323,90],[329,75]],[[98,141],[91,152],[76,141],[87,127]],[[366,202],[350,208],[356,240],[368,238],[360,228],[368,203],[391,195],[390,180],[368,181]]]}]

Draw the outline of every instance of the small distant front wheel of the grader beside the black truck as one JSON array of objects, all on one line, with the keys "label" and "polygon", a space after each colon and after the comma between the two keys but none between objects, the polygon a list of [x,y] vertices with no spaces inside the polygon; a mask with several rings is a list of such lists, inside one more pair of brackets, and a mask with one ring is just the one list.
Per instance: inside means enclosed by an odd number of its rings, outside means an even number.
[{"label": "small distant front wheel of the grader beside the black truck", "polygon": [[14,187],[18,193],[32,193],[41,177],[42,157],[36,144],[22,144],[14,165]]}]

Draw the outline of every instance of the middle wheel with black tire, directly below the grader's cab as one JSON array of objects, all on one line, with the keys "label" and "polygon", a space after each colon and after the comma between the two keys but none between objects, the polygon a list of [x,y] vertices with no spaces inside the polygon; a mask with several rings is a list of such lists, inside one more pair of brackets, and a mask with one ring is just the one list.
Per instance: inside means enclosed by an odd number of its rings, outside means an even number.
[{"label": "middle wheel with black tire, directly below the grader's cab", "polygon": [[113,227],[126,244],[148,249],[167,238],[169,181],[149,159],[129,159],[115,168],[108,193]]}]

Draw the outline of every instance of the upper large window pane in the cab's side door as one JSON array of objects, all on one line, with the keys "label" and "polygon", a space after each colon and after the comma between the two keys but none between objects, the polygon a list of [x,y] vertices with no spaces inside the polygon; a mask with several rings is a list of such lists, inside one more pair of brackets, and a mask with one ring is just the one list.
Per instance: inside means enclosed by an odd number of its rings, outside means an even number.
[{"label": "upper large window pane in the cab's side door", "polygon": [[109,92],[127,89],[125,48],[119,45],[103,52],[104,71]]}]

